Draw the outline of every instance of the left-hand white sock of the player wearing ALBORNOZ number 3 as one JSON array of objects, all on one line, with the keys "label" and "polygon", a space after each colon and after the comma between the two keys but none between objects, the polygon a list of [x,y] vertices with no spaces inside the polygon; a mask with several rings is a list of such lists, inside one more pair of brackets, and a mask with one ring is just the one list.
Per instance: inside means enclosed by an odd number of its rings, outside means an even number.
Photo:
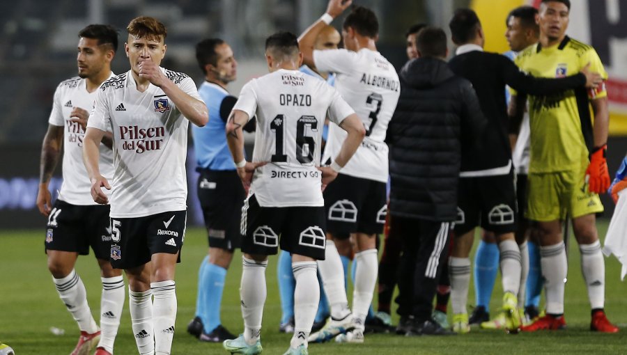
[{"label": "left-hand white sock of the player wearing ALBORNOZ number 3", "polygon": [[344,273],[340,272],[341,270],[343,270],[342,260],[335,243],[327,239],[325,260],[318,260],[318,271],[320,271],[325,294],[331,307],[331,317],[334,319],[343,319],[350,313],[346,288],[344,288]]}]

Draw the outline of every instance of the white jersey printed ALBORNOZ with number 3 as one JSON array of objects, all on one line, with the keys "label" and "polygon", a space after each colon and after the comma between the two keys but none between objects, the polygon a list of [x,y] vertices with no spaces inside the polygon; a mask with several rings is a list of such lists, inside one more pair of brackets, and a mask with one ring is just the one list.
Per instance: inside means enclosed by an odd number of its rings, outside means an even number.
[{"label": "white jersey printed ALBORNOZ with number 3", "polygon": [[[320,71],[337,74],[335,87],[366,127],[366,138],[341,173],[387,182],[385,132],[401,94],[394,66],[379,52],[365,48],[359,52],[346,49],[314,51],[314,63]],[[329,126],[323,162],[336,157],[344,137],[346,132],[343,129]]]}]

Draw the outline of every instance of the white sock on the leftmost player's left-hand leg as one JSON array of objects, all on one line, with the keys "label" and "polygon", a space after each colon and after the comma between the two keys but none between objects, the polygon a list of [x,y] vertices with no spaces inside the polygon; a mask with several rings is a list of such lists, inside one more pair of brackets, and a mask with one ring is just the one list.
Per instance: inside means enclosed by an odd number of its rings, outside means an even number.
[{"label": "white sock on the leftmost player's left-hand leg", "polygon": [[68,276],[64,278],[52,278],[52,282],[56,285],[56,291],[59,292],[61,301],[65,303],[72,317],[78,323],[81,331],[87,333],[95,333],[98,331],[98,324],[91,316],[91,310],[87,303],[87,290],[81,278],[72,269]]}]

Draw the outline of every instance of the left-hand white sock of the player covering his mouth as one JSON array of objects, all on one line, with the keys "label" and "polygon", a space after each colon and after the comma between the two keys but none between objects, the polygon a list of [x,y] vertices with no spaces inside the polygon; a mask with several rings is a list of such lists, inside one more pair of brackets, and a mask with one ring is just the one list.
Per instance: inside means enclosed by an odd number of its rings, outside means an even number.
[{"label": "left-hand white sock of the player covering his mouth", "polygon": [[139,354],[155,354],[153,338],[153,291],[134,292],[128,288],[128,308]]}]

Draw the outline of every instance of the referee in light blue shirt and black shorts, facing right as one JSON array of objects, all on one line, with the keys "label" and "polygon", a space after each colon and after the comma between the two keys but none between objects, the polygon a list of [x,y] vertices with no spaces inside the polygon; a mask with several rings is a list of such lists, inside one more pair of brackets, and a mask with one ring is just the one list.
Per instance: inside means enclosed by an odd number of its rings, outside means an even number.
[{"label": "referee in light blue shirt and black shorts, facing right", "polygon": [[[196,316],[187,332],[206,342],[236,338],[222,326],[220,303],[226,270],[233,251],[240,246],[240,215],[245,199],[242,182],[226,145],[224,126],[237,99],[226,91],[235,80],[238,63],[224,40],[210,38],[196,45],[196,59],[205,74],[198,89],[209,110],[205,127],[192,127],[197,159],[198,198],[203,210],[209,241],[198,279]],[[254,120],[251,120],[254,125]],[[249,125],[245,127],[251,131]],[[254,129],[254,126],[253,126]]]}]

